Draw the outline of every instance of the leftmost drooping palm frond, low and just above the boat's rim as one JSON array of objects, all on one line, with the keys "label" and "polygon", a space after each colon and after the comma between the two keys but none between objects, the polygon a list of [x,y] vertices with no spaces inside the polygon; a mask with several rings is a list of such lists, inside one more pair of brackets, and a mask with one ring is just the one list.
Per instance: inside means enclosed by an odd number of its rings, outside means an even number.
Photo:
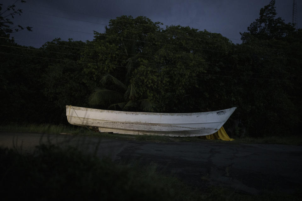
[{"label": "leftmost drooping palm frond, low and just above the boat's rim", "polygon": [[105,88],[96,88],[89,96],[90,105],[99,105],[102,101],[117,102],[120,100],[123,100],[123,94]]}]

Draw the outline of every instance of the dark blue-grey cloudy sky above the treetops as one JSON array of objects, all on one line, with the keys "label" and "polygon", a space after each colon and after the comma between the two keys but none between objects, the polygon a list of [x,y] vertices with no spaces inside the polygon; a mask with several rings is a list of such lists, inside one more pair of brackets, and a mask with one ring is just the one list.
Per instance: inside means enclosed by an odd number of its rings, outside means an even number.
[{"label": "dark blue-grey cloudy sky above the treetops", "polygon": [[[14,2],[15,0],[2,1],[3,10]],[[73,38],[76,41],[91,41],[93,30],[103,32],[103,24],[108,24],[109,19],[121,15],[143,15],[153,22],[162,22],[163,27],[180,24],[205,29],[221,33],[234,43],[241,43],[239,32],[246,31],[249,24],[259,17],[260,8],[269,2],[270,0],[27,0],[26,3],[16,3],[16,8],[23,9],[23,14],[16,16],[13,21],[14,25],[33,27],[33,31],[23,30],[12,36],[18,44],[34,47],[40,47],[56,37],[62,40]],[[286,23],[292,22],[293,0],[276,0],[275,6],[278,17],[282,17]],[[299,20],[299,16],[302,15],[302,2],[299,0],[297,8],[298,27],[301,28],[302,20]]]}]

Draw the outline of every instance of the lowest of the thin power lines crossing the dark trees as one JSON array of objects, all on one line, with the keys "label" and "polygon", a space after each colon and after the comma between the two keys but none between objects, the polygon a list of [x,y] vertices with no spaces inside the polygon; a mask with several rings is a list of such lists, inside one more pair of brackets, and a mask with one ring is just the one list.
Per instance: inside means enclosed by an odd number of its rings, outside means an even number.
[{"label": "lowest of the thin power lines crossing the dark trees", "polygon": [[[22,57],[33,57],[33,58],[42,58],[42,59],[50,59],[50,60],[57,60],[57,61],[65,61],[65,62],[76,62],[76,63],[85,63],[85,64],[96,64],[96,65],[109,65],[109,66],[115,66],[118,68],[126,68],[126,66],[117,66],[117,65],[110,65],[110,64],[99,64],[99,63],[92,63],[92,62],[81,62],[81,61],[73,61],[73,60],[64,60],[64,59],[55,59],[55,58],[47,58],[47,57],[36,57],[36,56],[29,56],[29,55],[20,55],[20,54],[11,54],[11,53],[6,53],[6,52],[0,52],[0,54],[8,54],[8,55],[18,55]],[[132,67],[136,68],[137,67]],[[152,69],[152,68],[147,68],[148,70],[153,70],[153,71],[166,71],[169,72],[170,70],[165,70],[165,69]],[[202,70],[202,69],[201,69]],[[171,71],[170,71],[171,72]],[[181,71],[173,71],[176,73],[184,73]],[[188,73],[188,74],[193,74],[193,75],[207,75],[207,76],[214,76],[214,77],[228,77],[228,78],[240,78],[240,79],[253,79],[253,80],[269,80],[269,81],[287,81],[287,82],[293,82],[294,80],[285,80],[285,79],[265,79],[265,78],[247,78],[247,77],[235,77],[235,76],[227,76],[227,75],[213,75],[213,74],[204,74],[204,73]]]}]

